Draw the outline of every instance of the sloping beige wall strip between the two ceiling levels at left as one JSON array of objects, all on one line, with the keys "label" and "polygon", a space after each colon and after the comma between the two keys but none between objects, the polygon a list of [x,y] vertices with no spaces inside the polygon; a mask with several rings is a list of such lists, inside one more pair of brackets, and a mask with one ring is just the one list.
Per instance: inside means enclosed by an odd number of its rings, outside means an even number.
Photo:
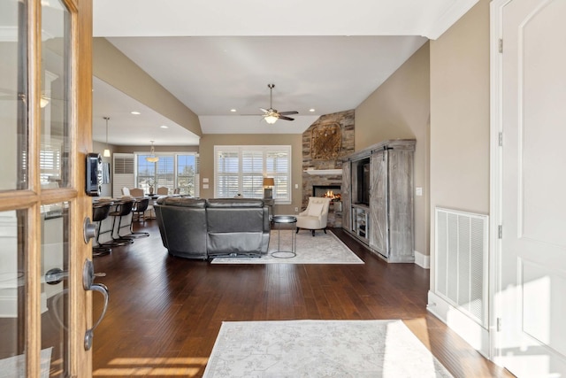
[{"label": "sloping beige wall strip between the two ceiling levels at left", "polygon": [[193,111],[105,38],[93,38],[93,74],[195,135],[203,134]]}]

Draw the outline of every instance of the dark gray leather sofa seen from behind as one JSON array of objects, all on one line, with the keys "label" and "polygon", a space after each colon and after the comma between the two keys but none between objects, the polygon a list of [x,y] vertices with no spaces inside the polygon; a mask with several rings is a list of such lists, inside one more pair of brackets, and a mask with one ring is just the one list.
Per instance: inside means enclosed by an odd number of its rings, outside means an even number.
[{"label": "dark gray leather sofa seen from behind", "polygon": [[260,257],[269,246],[269,209],[261,199],[159,197],[164,247],[181,258]]}]

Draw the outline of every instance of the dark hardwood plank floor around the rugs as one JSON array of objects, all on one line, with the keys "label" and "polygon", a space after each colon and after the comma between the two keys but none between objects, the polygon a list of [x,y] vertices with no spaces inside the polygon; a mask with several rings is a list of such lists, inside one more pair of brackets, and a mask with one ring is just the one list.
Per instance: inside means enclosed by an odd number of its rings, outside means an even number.
[{"label": "dark hardwood plank floor around the rugs", "polygon": [[[387,264],[341,229],[363,265],[210,265],[151,236],[95,258],[111,292],[95,331],[95,377],[199,377],[224,320],[402,319],[455,377],[510,377],[426,311],[429,271]],[[101,296],[94,294],[97,319]]]}]

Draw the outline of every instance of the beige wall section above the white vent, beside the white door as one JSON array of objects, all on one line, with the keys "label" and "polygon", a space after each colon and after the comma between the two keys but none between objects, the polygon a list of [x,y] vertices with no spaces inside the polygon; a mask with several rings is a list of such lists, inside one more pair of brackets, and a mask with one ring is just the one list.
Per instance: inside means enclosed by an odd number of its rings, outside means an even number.
[{"label": "beige wall section above the white vent, beside the white door", "polygon": [[431,42],[432,251],[435,206],[489,212],[489,77],[489,1],[480,0]]}]

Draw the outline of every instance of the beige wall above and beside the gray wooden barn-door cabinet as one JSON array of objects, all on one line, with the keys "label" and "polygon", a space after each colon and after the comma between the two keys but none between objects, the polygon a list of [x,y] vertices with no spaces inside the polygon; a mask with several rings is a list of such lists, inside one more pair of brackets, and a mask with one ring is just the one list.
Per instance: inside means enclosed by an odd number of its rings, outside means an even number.
[{"label": "beige wall above and beside the gray wooden barn-door cabinet", "polygon": [[387,139],[417,139],[415,251],[429,255],[430,56],[425,43],[356,108],[356,151]]}]

